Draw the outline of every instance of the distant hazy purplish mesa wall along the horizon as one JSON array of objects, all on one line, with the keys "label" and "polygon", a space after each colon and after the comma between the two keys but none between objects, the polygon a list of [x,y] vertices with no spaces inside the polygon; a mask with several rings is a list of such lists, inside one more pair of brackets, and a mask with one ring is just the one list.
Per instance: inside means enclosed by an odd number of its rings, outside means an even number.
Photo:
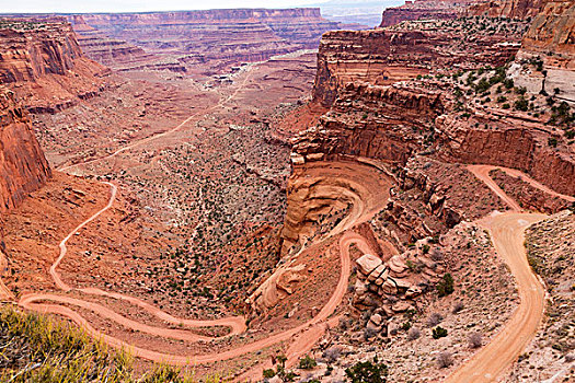
[{"label": "distant hazy purplish mesa wall along the horizon", "polygon": [[[84,14],[78,24],[84,30],[81,34],[94,35],[93,31],[85,31],[85,24],[148,54],[180,55],[182,59],[199,55],[203,60],[235,62],[317,48],[324,32],[340,26],[323,19],[319,9]],[[102,56],[93,40],[85,44],[91,45],[88,49],[94,51],[94,57]]]}]

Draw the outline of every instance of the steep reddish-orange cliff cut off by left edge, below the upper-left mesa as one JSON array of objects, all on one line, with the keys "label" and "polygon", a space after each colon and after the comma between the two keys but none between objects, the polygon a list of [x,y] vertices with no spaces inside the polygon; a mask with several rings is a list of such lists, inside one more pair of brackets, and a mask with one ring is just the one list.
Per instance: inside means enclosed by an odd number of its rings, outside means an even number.
[{"label": "steep reddish-orange cliff cut off by left edge, below the upper-left mesa", "polygon": [[16,207],[50,174],[26,112],[0,85],[0,213]]}]

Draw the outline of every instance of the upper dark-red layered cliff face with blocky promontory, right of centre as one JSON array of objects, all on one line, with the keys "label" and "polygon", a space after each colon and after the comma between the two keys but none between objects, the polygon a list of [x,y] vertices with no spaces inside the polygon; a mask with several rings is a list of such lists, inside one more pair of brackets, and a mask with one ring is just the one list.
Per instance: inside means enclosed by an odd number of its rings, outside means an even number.
[{"label": "upper dark-red layered cliff face with blocky promontory, right of centre", "polygon": [[468,38],[473,22],[418,22],[371,31],[334,31],[320,43],[314,101],[330,106],[350,82],[376,85],[426,74],[432,68],[452,70],[501,66],[519,49],[525,28],[494,25],[491,34]]}]

